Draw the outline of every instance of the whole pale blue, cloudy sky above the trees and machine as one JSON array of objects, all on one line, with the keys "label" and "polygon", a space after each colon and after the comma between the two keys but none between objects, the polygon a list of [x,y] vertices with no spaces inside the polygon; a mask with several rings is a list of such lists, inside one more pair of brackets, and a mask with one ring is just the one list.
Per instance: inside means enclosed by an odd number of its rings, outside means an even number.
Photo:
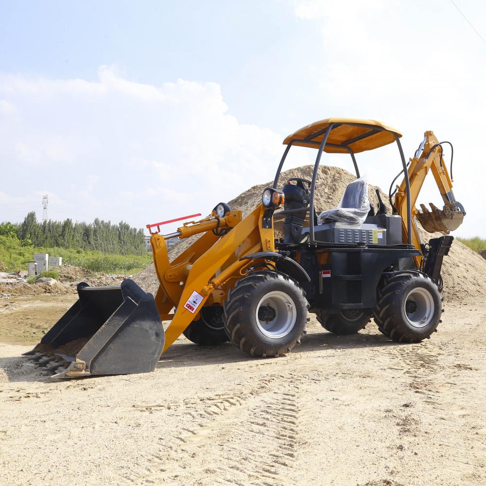
[{"label": "whole pale blue, cloudy sky above the trees and machine", "polygon": [[[484,2],[455,3],[486,38]],[[206,214],[272,179],[296,128],[349,116],[399,128],[407,157],[425,130],[451,140],[457,233],[486,236],[485,54],[447,0],[0,1],[0,220],[43,193],[54,219]],[[397,155],[358,162],[385,189]]]}]

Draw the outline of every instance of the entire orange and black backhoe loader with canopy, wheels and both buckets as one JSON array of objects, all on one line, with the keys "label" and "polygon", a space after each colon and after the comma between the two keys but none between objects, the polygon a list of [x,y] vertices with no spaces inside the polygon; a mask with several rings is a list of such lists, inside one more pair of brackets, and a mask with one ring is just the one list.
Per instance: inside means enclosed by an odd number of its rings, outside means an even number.
[{"label": "entire orange and black backhoe loader with canopy, wheels and both buckets", "polygon": [[[330,332],[356,333],[373,317],[393,341],[417,343],[441,322],[442,260],[466,214],[452,192],[443,145],[425,132],[405,161],[398,130],[374,120],[330,118],[287,137],[271,187],[248,216],[218,204],[208,217],[163,235],[147,225],[159,288],[155,297],[132,280],[120,287],[78,285],[79,300],[28,353],[57,377],[153,371],[182,333],[193,343],[231,341],[255,357],[300,344],[309,312]],[[403,180],[371,208],[355,154],[395,142]],[[311,180],[279,176],[294,147],[317,150]],[[347,154],[356,180],[338,208],[317,214],[314,194],[323,153]],[[432,172],[444,208],[415,207]],[[451,157],[452,172],[452,157]],[[283,237],[275,221],[283,218]],[[423,242],[417,221],[439,238]],[[309,221],[309,226],[305,225]],[[167,240],[200,235],[173,261]],[[162,322],[166,321],[165,332]],[[216,351],[215,351],[216,352]]]}]

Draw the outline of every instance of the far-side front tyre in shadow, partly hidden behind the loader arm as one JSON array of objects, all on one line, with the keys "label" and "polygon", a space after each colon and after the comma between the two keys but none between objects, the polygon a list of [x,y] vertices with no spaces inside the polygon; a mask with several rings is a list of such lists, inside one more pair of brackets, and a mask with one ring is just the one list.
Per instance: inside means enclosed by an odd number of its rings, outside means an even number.
[{"label": "far-side front tyre in shadow, partly hidden behind the loader arm", "polygon": [[202,346],[215,346],[229,341],[223,323],[223,307],[203,307],[199,320],[192,321],[183,334],[189,341]]}]

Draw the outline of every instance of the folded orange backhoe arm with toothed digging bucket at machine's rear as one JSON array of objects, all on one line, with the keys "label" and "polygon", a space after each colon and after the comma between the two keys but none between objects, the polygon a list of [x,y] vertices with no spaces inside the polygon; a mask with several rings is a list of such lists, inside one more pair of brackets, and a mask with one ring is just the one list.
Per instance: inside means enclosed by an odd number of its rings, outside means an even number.
[{"label": "folded orange backhoe arm with toothed digging bucket at machine's rear", "polygon": [[[428,232],[440,231],[449,233],[456,229],[466,214],[464,208],[458,203],[452,192],[452,180],[446,167],[445,159],[442,156],[442,146],[434,135],[434,132],[427,131],[424,134],[423,151],[418,157],[410,159],[408,177],[410,179],[410,206],[412,208],[412,244],[422,251],[422,241],[418,233],[417,221]],[[440,210],[431,203],[432,212],[428,211],[421,204],[422,212],[416,207],[417,198],[422,190],[423,183],[429,172],[434,175],[435,183],[444,201],[444,208]],[[407,194],[405,178],[397,186],[394,207],[402,218],[403,241],[408,241],[407,231]],[[414,257],[418,267],[423,257]]]}]

